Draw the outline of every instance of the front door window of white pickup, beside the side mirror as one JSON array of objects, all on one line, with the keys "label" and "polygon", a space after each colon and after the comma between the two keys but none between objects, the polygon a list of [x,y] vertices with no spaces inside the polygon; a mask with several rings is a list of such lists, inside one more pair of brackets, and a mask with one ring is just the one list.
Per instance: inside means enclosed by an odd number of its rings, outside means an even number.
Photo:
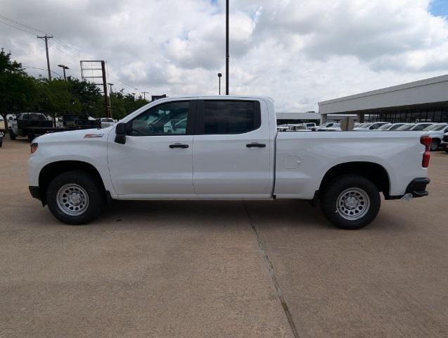
[{"label": "front door window of white pickup, beside the side mirror", "polygon": [[167,102],[149,108],[127,123],[130,136],[186,134],[189,101]]}]

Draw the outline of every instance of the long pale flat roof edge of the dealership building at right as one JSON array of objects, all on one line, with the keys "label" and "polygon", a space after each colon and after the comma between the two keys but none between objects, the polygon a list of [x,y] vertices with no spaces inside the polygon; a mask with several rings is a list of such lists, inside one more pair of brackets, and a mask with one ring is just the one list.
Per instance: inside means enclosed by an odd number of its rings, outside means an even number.
[{"label": "long pale flat roof edge of the dealership building at right", "polygon": [[448,75],[319,102],[319,113],[345,113],[448,101]]}]

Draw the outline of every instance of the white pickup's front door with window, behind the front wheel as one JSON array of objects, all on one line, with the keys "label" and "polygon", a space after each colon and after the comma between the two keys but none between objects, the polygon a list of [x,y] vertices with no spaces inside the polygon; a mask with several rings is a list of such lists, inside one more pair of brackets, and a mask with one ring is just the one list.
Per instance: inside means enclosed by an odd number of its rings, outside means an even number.
[{"label": "white pickup's front door with window, behind the front wheel", "polygon": [[125,144],[108,142],[110,178],[118,195],[194,195],[193,115],[196,101],[168,101],[126,123]]}]

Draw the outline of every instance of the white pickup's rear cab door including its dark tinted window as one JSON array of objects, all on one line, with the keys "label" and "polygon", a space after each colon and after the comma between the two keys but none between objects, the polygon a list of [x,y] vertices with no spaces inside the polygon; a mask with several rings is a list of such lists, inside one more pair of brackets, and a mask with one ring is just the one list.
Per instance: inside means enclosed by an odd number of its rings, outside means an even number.
[{"label": "white pickup's rear cab door including its dark tinted window", "polygon": [[198,101],[193,142],[196,194],[269,198],[274,175],[272,147],[264,101]]}]

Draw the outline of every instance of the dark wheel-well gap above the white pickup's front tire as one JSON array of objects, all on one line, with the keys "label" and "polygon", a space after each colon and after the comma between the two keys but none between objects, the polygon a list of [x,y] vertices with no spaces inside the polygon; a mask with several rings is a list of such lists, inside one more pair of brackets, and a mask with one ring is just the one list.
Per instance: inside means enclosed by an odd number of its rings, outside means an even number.
[{"label": "dark wheel-well gap above the white pickup's front tire", "polygon": [[48,189],[50,182],[61,173],[66,173],[72,170],[81,170],[93,175],[95,179],[101,183],[101,187],[103,187],[104,193],[106,194],[103,179],[98,169],[91,163],[84,161],[56,161],[45,165],[39,173],[39,196],[41,197],[43,204],[46,204],[46,190]]}]

